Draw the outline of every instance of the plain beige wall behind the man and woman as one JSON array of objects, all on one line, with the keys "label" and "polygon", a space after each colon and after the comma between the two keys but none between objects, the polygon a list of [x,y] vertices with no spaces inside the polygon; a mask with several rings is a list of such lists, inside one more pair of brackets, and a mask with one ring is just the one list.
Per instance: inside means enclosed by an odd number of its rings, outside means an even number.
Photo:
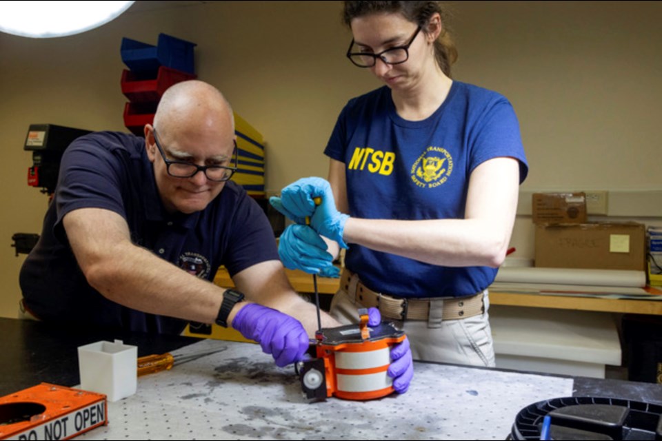
[{"label": "plain beige wall behind the man and woman", "polygon": [[[267,188],[325,176],[337,114],[379,85],[343,54],[339,1],[138,2],[102,28],[60,39],[0,34],[0,316],[15,316],[24,256],[16,232],[40,232],[47,198],[26,184],[30,123],[124,130],[122,37],[159,32],[197,43],[199,78],[267,140]],[[140,4],[143,3],[143,4]],[[163,2],[159,2],[163,3]],[[168,3],[168,2],[165,2]],[[519,116],[529,189],[662,189],[661,2],[451,2],[454,76],[499,91]],[[529,219],[513,242],[531,253]]]}]

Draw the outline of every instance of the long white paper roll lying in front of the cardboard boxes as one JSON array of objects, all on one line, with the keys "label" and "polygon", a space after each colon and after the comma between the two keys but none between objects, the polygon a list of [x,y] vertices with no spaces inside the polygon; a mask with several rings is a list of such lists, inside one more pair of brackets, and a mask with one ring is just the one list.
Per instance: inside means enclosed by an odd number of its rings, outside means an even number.
[{"label": "long white paper roll lying in front of the cardboard boxes", "polygon": [[624,269],[570,269],[501,267],[495,282],[550,283],[554,285],[592,285],[602,287],[645,287],[644,271]]}]

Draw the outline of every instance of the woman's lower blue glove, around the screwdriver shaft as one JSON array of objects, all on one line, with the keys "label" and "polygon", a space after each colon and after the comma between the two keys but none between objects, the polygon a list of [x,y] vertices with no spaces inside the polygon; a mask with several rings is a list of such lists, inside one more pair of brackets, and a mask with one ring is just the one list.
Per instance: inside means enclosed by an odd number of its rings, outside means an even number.
[{"label": "woman's lower blue glove, around the screwdriver shaft", "polygon": [[289,269],[301,269],[308,274],[340,277],[340,269],[333,266],[333,256],[314,229],[307,225],[290,225],[279,239],[278,255]]}]

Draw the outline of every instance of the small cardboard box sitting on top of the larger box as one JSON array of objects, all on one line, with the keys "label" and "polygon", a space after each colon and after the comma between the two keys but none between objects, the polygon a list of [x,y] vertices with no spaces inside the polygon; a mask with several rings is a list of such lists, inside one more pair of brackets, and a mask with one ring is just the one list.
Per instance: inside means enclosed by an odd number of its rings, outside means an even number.
[{"label": "small cardboard box sitting on top of the larger box", "polygon": [[533,223],[586,223],[586,195],[579,193],[534,193]]}]

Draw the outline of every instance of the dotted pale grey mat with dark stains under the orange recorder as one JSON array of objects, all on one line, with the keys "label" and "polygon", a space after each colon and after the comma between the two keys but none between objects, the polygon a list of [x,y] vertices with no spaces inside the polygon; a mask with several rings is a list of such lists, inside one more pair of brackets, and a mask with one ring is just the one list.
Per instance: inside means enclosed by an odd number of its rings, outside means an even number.
[{"label": "dotted pale grey mat with dark stains under the orange recorder", "polygon": [[292,366],[259,345],[203,340],[173,355],[217,353],[138,379],[108,403],[87,440],[504,440],[528,404],[572,396],[572,379],[415,363],[407,393],[310,404]]}]

